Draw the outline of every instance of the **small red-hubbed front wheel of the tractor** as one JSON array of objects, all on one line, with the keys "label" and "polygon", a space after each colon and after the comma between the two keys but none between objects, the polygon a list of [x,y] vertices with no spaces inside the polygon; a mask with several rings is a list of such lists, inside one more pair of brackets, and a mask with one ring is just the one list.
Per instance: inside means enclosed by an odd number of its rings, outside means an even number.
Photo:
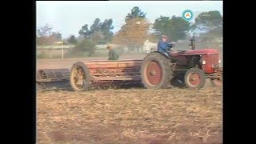
[{"label": "small red-hubbed front wheel of the tractor", "polygon": [[201,89],[206,84],[206,75],[202,70],[194,67],[186,71],[184,80],[188,88]]}]

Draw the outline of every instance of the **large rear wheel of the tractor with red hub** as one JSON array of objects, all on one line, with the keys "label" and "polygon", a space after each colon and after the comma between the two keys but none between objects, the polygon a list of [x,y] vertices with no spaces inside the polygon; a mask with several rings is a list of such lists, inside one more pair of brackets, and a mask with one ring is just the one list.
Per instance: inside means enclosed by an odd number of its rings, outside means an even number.
[{"label": "large rear wheel of the tractor with red hub", "polygon": [[141,77],[147,89],[167,88],[172,78],[170,58],[160,53],[149,54],[142,62]]}]

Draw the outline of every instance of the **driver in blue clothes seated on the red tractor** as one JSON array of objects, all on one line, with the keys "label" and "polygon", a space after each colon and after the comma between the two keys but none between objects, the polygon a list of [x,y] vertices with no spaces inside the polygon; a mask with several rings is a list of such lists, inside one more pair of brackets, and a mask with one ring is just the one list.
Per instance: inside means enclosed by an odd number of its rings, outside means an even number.
[{"label": "driver in blue clothes seated on the red tractor", "polygon": [[166,54],[166,56],[170,57],[170,48],[174,46],[173,43],[167,42],[168,37],[166,35],[162,35],[162,40],[158,42],[158,51],[162,54]]}]

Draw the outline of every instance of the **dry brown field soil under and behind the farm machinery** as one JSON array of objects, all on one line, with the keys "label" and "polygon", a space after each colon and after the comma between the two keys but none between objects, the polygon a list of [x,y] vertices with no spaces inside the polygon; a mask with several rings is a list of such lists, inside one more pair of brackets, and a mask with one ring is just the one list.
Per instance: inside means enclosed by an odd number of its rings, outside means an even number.
[{"label": "dry brown field soil under and behind the farm machinery", "polygon": [[[38,60],[37,69],[80,60]],[[36,96],[38,144],[222,143],[222,88],[40,90]]]}]

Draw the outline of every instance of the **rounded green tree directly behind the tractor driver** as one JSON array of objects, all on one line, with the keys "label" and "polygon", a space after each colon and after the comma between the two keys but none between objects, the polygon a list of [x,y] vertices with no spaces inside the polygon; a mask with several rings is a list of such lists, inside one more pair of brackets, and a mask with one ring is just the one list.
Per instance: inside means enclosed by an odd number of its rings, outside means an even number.
[{"label": "rounded green tree directly behind the tractor driver", "polygon": [[190,28],[190,22],[185,21],[182,17],[160,16],[154,21],[153,29],[157,32],[158,38],[162,34],[166,34],[172,41],[177,41],[186,37],[186,32]]}]

